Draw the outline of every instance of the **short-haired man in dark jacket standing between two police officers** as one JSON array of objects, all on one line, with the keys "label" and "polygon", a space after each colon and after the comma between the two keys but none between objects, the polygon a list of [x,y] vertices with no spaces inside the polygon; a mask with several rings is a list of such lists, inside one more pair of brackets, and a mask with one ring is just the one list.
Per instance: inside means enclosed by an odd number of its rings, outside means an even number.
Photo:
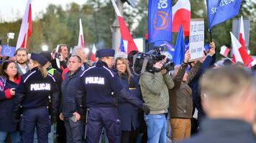
[{"label": "short-haired man in dark jacket standing between two police officers", "polygon": [[82,142],[83,123],[81,122],[81,114],[78,114],[76,104],[76,91],[78,90],[81,75],[81,58],[79,56],[71,56],[68,60],[68,73],[61,84],[61,107],[60,119],[64,120],[67,143]]}]

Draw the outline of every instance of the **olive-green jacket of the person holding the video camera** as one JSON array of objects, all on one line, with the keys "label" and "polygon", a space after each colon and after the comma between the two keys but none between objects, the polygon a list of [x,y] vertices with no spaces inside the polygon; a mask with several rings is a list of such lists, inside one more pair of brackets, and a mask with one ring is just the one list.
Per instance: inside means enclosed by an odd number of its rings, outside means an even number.
[{"label": "olive-green jacket of the person holding the video camera", "polygon": [[168,112],[168,89],[174,86],[169,74],[145,72],[140,75],[140,88],[145,105],[150,108],[150,114],[163,114]]}]

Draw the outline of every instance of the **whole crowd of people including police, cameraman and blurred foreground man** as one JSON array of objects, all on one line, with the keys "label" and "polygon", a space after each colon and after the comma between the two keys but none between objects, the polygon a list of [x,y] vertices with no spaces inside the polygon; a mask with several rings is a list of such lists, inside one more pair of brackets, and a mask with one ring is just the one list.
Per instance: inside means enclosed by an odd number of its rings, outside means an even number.
[{"label": "whole crowd of people including police, cameraman and blurred foreground man", "polygon": [[217,66],[209,46],[198,61],[186,51],[173,71],[163,59],[140,76],[137,51],[99,49],[96,63],[65,44],[0,55],[0,143],[256,142],[255,66]]}]

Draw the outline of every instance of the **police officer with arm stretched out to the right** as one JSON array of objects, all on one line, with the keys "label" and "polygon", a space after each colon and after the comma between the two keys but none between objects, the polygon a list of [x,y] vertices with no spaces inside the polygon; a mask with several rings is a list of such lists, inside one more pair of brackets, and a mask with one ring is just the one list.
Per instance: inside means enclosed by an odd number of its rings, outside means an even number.
[{"label": "police officer with arm stretched out to the right", "polygon": [[[102,128],[106,129],[109,142],[120,142],[120,120],[114,102],[114,95],[121,96],[127,102],[142,108],[145,114],[150,110],[143,105],[141,99],[132,96],[122,87],[119,78],[110,68],[113,66],[114,50],[100,49],[96,51],[99,61],[95,66],[81,74],[81,87],[77,93],[77,102],[82,107],[86,102],[88,107],[88,123],[86,139],[88,143],[99,142]],[[81,101],[86,95],[86,101]],[[78,113],[81,112],[78,109]]]}]

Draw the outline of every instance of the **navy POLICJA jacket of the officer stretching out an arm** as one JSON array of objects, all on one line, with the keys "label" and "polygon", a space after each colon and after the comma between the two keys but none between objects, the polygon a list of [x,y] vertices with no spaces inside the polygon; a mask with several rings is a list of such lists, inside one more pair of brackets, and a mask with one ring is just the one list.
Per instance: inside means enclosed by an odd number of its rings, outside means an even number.
[{"label": "navy POLICJA jacket of the officer stretching out an arm", "polygon": [[[107,68],[104,61],[98,61],[81,74],[80,88],[77,92],[79,107],[116,107],[114,95],[123,97],[137,107],[142,107],[142,100],[129,94],[120,83],[119,77]],[[82,101],[83,97],[86,101]],[[79,112],[79,111],[78,111]]]}]

